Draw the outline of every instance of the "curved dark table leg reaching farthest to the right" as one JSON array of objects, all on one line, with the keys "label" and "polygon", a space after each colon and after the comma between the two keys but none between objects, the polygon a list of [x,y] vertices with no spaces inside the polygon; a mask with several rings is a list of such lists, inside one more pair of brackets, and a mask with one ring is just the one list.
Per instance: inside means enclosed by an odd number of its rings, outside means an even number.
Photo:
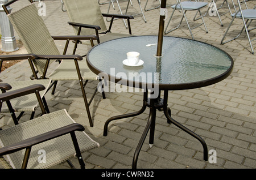
[{"label": "curved dark table leg reaching farthest to the right", "polygon": [[189,130],[187,127],[181,125],[180,123],[178,123],[177,121],[175,121],[174,119],[171,118],[171,115],[168,112],[167,109],[167,101],[168,101],[168,91],[164,91],[164,115],[166,116],[166,118],[168,119],[168,121],[170,121],[171,123],[173,123],[175,126],[181,128],[181,130],[187,132],[189,135],[193,136],[194,138],[196,138],[197,140],[199,140],[199,142],[203,145],[203,149],[204,149],[204,160],[208,161],[208,150],[207,150],[207,144],[204,142],[204,140],[197,134],[195,134],[195,132]]}]

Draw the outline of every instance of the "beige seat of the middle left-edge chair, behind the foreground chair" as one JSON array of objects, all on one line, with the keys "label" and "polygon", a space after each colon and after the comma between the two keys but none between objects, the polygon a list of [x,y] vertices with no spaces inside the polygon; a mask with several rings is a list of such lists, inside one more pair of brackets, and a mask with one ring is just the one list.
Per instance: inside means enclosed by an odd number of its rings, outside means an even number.
[{"label": "beige seat of the middle left-edge chair, behind the foreground chair", "polygon": [[[13,87],[11,88],[10,91],[27,87],[32,84],[42,84],[44,85],[44,87],[46,87],[46,89],[40,92],[41,97],[43,97],[46,94],[50,83],[51,83],[51,80],[49,79],[8,82],[8,84],[10,84],[11,87]],[[38,100],[35,94],[14,98],[10,100],[10,102],[15,112],[34,112],[36,107],[38,106]],[[3,103],[1,113],[10,113],[6,103]]]}]

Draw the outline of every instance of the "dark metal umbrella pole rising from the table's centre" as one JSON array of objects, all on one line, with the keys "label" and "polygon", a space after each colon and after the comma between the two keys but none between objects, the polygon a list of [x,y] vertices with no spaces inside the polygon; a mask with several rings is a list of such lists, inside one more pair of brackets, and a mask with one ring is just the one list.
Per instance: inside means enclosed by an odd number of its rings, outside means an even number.
[{"label": "dark metal umbrella pole rising from the table's centre", "polygon": [[[161,1],[161,8],[166,8],[166,0]],[[165,15],[160,15],[158,31],[158,49],[156,51],[156,57],[162,57],[164,18],[166,18]]]}]

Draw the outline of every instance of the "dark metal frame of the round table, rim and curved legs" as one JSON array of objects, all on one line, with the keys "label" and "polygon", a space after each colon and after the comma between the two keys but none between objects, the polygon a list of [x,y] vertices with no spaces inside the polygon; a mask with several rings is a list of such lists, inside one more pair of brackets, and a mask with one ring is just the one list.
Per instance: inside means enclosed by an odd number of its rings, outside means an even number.
[{"label": "dark metal frame of the round table, rim and curved legs", "polygon": [[[112,41],[114,41],[114,40],[112,40]],[[196,40],[191,40],[191,41],[196,41]],[[215,46],[213,46],[213,47],[216,48]],[[94,48],[92,48],[92,49],[94,49]],[[219,48],[217,48],[217,49],[219,49]],[[221,49],[219,49],[219,50],[224,52]],[[90,53],[90,50],[89,50],[88,54],[89,53]],[[159,95],[158,95],[157,98],[148,98],[148,89],[144,89],[143,105],[142,105],[141,110],[139,110],[138,112],[134,112],[134,113],[116,115],[114,117],[109,118],[105,122],[104,133],[103,133],[104,136],[106,136],[108,134],[108,125],[109,125],[110,122],[112,122],[114,120],[117,120],[117,119],[137,116],[139,114],[142,114],[144,112],[144,110],[146,110],[147,107],[150,108],[150,113],[149,113],[149,116],[148,116],[148,121],[147,121],[146,127],[143,131],[141,139],[139,140],[137,148],[135,149],[135,153],[134,153],[134,157],[133,157],[133,165],[132,165],[133,169],[137,168],[137,161],[138,161],[139,152],[141,151],[142,145],[144,143],[144,140],[146,139],[146,136],[147,136],[149,130],[150,130],[149,144],[150,145],[154,144],[156,110],[163,111],[165,117],[167,118],[168,123],[173,123],[175,126],[179,127],[181,130],[187,132],[187,134],[193,136],[193,138],[196,138],[197,140],[199,140],[199,142],[203,145],[203,158],[204,158],[205,161],[208,161],[208,148],[207,148],[207,144],[205,143],[204,139],[201,138],[199,135],[197,135],[195,132],[189,130],[189,128],[181,125],[179,122],[175,121],[175,119],[173,119],[171,117],[171,109],[168,108],[168,104],[167,104],[167,102],[168,102],[168,91],[205,87],[207,85],[215,84],[215,83],[220,82],[221,80],[227,78],[231,74],[232,69],[233,69],[233,64],[234,64],[233,58],[229,54],[227,54],[227,55],[228,55],[228,57],[231,61],[231,65],[230,65],[229,69],[226,70],[223,74],[220,74],[220,75],[218,75],[214,78],[201,80],[201,81],[195,82],[195,83],[159,84]],[[88,56],[89,55],[87,55],[87,57],[86,57],[87,62],[88,62],[88,67],[94,73],[99,74],[101,71],[98,70],[97,67],[94,67],[90,63],[90,61],[88,59]],[[111,75],[109,75],[109,79],[110,80],[112,79]],[[119,79],[115,79],[115,83],[118,83],[118,81],[119,81]],[[127,82],[128,82],[127,84],[129,84],[129,85],[133,84],[133,83],[129,83],[129,80],[127,80]],[[142,86],[140,86],[140,88],[142,88]],[[161,91],[164,91],[163,98],[160,98],[160,92]]]}]

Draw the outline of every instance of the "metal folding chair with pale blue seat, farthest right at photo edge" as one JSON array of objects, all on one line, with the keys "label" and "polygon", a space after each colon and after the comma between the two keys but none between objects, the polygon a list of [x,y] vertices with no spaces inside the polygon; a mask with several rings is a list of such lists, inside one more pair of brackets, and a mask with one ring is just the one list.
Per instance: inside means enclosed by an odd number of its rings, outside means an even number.
[{"label": "metal folding chair with pale blue seat, farthest right at photo edge", "polygon": [[[247,36],[247,40],[249,41],[249,45],[250,45],[250,49],[251,49],[251,54],[254,54],[254,49],[253,49],[253,45],[251,44],[251,41],[256,40],[256,38],[251,38],[250,35],[252,37],[255,36],[254,31],[251,31],[251,30],[255,29],[255,26],[254,27],[250,27],[250,24],[251,24],[251,22],[253,20],[256,20],[256,5],[254,7],[249,8],[246,5],[246,1],[245,0],[243,0],[241,2],[237,0],[237,5],[238,5],[238,10],[237,10],[237,12],[235,12],[235,13],[233,13],[231,15],[232,16],[232,20],[231,20],[231,22],[229,24],[229,27],[226,29],[226,32],[224,33],[224,36],[222,37],[221,44],[225,44],[227,42],[236,40],[236,38],[240,37],[240,35],[243,33],[243,30],[245,30],[245,33],[246,33],[246,36]],[[231,30],[230,27],[232,27],[232,25],[234,25],[234,26],[236,25],[236,24],[233,24],[235,19],[240,19],[241,20],[241,22],[242,22],[242,29],[237,34],[236,37],[233,36],[234,38],[229,38],[229,40],[224,41],[225,38],[226,38],[226,35]],[[232,30],[234,30],[234,29],[232,29]],[[237,30],[237,28],[235,30]],[[230,32],[229,34],[233,35],[233,32],[232,33]]]}]

